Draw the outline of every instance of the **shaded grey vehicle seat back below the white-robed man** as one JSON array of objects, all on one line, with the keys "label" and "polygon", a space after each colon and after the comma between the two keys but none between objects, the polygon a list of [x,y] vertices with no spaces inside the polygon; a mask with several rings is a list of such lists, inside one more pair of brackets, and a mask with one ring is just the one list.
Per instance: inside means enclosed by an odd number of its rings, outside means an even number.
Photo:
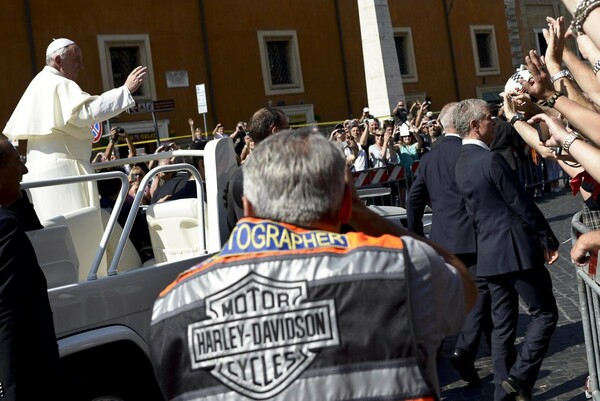
[{"label": "shaded grey vehicle seat back below the white-robed man", "polygon": [[48,288],[77,283],[79,261],[67,226],[53,226],[28,231],[38,263],[46,276]]}]

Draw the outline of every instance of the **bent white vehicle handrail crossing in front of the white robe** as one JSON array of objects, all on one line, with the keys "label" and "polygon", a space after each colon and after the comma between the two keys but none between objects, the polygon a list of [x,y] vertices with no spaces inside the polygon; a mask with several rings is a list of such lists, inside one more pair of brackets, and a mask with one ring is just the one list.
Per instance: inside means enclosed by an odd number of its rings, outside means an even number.
[{"label": "bent white vehicle handrail crossing in front of the white robe", "polygon": [[[117,223],[117,217],[121,212],[121,207],[125,202],[125,197],[127,196],[127,192],[129,190],[129,179],[127,175],[122,171],[108,171],[102,173],[88,174],[88,175],[78,175],[72,177],[61,177],[61,178],[53,178],[41,181],[28,181],[21,183],[21,188],[29,189],[29,188],[39,188],[46,187],[51,185],[62,185],[62,184],[73,184],[79,182],[87,182],[87,181],[101,181],[107,179],[120,179],[121,180],[121,190],[119,191],[119,195],[117,197],[115,207],[113,208],[110,218],[108,219],[108,223],[106,229],[102,233],[102,238],[100,239],[100,244],[98,245],[98,250],[96,251],[96,256],[92,262],[92,266],[88,272],[88,280],[96,280],[98,278],[98,268],[100,267],[100,262],[102,261],[102,257],[106,252],[106,245],[108,244],[108,239],[112,235],[112,232],[115,228],[115,224]],[[90,205],[91,206],[91,205]],[[120,255],[119,255],[120,259]]]}]

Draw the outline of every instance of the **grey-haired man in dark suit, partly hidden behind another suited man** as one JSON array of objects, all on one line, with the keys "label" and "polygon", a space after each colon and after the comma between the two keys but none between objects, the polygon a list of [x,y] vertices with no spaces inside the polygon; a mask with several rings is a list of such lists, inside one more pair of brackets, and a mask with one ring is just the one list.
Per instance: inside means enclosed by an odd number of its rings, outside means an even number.
[{"label": "grey-haired man in dark suit, partly hidden behind another suited man", "polygon": [[447,248],[469,268],[478,288],[477,302],[465,318],[450,356],[452,366],[470,384],[479,384],[474,367],[482,331],[491,331],[490,296],[487,282],[477,278],[477,244],[475,226],[465,210],[465,201],[456,187],[454,167],[462,147],[462,139],[454,128],[452,113],[457,103],[445,105],[438,120],[444,129],[439,144],[421,158],[415,182],[410,188],[406,206],[408,229],[423,235],[423,213],[429,204],[433,210],[429,239]]}]

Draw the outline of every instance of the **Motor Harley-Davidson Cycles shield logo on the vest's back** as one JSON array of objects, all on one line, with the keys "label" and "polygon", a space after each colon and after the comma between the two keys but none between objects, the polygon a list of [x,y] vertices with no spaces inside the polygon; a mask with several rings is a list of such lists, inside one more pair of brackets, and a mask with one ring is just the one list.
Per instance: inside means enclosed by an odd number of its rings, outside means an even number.
[{"label": "Motor Harley-Davidson Cycles shield logo on the vest's back", "polygon": [[289,386],[320,348],[339,344],[332,299],[307,301],[306,281],[250,273],[206,298],[210,319],[188,326],[192,369],[247,397],[265,399]]}]

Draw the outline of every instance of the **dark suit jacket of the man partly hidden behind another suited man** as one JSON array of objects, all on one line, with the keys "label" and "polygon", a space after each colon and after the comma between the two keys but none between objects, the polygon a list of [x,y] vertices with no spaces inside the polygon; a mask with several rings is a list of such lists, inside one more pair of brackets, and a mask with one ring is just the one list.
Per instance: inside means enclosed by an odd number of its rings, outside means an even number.
[{"label": "dark suit jacket of the man partly hidden behind another suited man", "polygon": [[444,136],[435,143],[438,145],[421,158],[408,194],[408,229],[423,235],[423,212],[429,203],[433,211],[429,238],[454,253],[475,253],[473,220],[465,210],[454,178],[462,140]]}]

